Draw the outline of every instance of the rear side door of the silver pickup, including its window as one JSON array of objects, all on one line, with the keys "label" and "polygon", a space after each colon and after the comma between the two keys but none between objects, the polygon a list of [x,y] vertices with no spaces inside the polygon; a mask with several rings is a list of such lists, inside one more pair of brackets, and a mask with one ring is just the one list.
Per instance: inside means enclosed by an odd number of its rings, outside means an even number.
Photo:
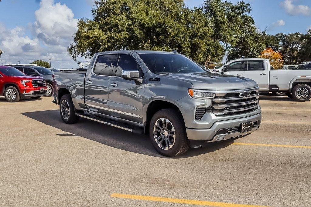
[{"label": "rear side door of the silver pickup, including its window", "polygon": [[116,55],[99,55],[85,77],[85,104],[99,114],[109,114],[108,85],[116,61]]}]

